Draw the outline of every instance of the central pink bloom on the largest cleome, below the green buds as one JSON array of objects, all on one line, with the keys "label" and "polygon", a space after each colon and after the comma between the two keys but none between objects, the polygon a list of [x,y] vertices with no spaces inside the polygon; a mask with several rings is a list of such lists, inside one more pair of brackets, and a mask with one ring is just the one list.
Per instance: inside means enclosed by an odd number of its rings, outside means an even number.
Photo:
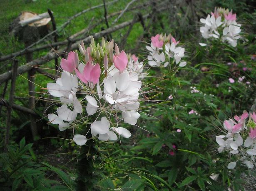
[{"label": "central pink bloom on the largest cleome, below the green buds", "polygon": [[92,65],[92,63],[88,62],[85,65],[83,74],[81,74],[76,68],[75,72],[77,74],[77,77],[79,77],[79,79],[86,84],[88,82],[92,82],[93,85],[95,85],[99,81],[100,67],[98,63],[96,65]]}]

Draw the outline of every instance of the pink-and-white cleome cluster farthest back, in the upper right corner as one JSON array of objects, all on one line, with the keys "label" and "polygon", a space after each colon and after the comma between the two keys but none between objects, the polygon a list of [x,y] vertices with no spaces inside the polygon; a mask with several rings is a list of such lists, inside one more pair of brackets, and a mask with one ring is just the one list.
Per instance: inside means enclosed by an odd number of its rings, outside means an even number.
[{"label": "pink-and-white cleome cluster farthest back, in the upper right corner", "polygon": [[[214,13],[208,15],[206,19],[201,18],[200,22],[204,26],[200,27],[200,32],[204,39],[220,39],[236,47],[237,40],[240,39],[241,24],[236,23],[236,14],[229,12],[229,9],[216,8]],[[205,43],[199,43],[206,46]]]}]

